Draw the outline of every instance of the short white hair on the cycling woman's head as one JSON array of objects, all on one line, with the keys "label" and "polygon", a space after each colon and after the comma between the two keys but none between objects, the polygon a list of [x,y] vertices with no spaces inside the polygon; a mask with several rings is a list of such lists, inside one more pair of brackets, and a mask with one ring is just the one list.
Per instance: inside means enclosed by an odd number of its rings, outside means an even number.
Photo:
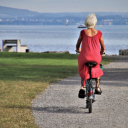
[{"label": "short white hair on the cycling woman's head", "polygon": [[94,28],[97,23],[97,18],[94,13],[89,14],[85,19],[85,26],[87,28]]}]

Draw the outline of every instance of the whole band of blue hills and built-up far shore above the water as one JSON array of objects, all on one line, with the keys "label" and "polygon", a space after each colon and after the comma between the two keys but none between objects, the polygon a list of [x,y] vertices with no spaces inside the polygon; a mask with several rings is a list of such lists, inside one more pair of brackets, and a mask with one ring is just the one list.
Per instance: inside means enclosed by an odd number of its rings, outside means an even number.
[{"label": "whole band of blue hills and built-up far shore above the water", "polygon": [[[69,25],[83,24],[90,12],[38,13],[0,6],[0,25]],[[128,25],[128,12],[94,12],[98,25]]]}]

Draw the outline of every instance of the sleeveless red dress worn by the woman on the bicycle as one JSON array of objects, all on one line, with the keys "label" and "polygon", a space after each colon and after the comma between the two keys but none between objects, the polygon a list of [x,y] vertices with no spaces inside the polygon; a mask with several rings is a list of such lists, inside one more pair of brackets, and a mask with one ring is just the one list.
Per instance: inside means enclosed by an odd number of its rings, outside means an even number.
[{"label": "sleeveless red dress worn by the woman on the bicycle", "polygon": [[89,68],[85,66],[85,63],[93,61],[96,62],[97,65],[92,68],[92,78],[98,78],[103,75],[103,71],[99,67],[101,62],[99,39],[102,33],[98,31],[96,35],[90,37],[86,35],[85,30],[82,30],[80,34],[82,37],[82,46],[78,57],[79,75],[85,81],[89,79]]}]

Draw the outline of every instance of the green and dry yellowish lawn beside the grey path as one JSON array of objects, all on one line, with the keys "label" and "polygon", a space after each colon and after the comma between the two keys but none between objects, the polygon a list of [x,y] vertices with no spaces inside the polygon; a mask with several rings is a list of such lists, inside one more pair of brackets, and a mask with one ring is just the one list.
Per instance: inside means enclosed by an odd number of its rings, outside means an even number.
[{"label": "green and dry yellowish lawn beside the grey path", "polygon": [[[78,73],[78,55],[0,53],[0,128],[37,128],[31,101],[49,84]],[[111,62],[103,58],[102,63]]]}]

